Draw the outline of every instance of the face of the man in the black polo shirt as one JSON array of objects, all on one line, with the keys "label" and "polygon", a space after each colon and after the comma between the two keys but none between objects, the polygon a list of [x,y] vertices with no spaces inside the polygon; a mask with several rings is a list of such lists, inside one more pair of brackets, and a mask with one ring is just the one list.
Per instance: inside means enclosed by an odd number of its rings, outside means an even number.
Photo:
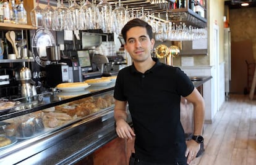
[{"label": "face of the man in the black polo shirt", "polygon": [[146,28],[136,26],[126,33],[124,48],[129,52],[135,62],[143,62],[151,57],[151,49],[155,44],[154,39],[149,38]]}]

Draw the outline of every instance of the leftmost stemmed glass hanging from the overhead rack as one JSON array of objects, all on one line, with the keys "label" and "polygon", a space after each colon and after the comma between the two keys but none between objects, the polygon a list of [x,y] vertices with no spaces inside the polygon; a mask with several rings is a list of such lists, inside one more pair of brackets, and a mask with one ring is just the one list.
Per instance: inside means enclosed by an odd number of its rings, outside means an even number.
[{"label": "leftmost stemmed glass hanging from the overhead rack", "polygon": [[36,28],[43,27],[43,9],[39,6],[39,0],[36,2],[36,7],[30,12],[32,25]]}]

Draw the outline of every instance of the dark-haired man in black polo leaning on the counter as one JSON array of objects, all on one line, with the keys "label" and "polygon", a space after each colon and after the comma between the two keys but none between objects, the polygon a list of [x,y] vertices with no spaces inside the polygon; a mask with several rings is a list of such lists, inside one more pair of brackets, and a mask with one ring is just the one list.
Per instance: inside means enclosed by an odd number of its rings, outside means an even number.
[{"label": "dark-haired man in black polo leaning on the counter", "polygon": [[[130,164],[189,164],[203,140],[202,96],[183,71],[151,57],[155,41],[148,23],[130,20],[122,36],[133,64],[117,75],[114,118],[120,138],[135,138]],[[181,96],[194,105],[195,140],[187,143],[180,121]],[[127,103],[134,131],[126,122]]]}]

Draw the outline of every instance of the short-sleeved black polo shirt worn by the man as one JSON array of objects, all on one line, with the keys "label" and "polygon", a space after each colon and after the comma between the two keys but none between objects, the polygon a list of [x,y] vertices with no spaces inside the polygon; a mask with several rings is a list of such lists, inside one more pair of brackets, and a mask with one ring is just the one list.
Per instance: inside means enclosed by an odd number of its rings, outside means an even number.
[{"label": "short-sleeved black polo shirt worn by the man", "polygon": [[120,70],[114,98],[129,103],[135,152],[140,159],[152,163],[186,162],[180,102],[194,85],[180,68],[153,60],[155,65],[144,74],[134,65]]}]

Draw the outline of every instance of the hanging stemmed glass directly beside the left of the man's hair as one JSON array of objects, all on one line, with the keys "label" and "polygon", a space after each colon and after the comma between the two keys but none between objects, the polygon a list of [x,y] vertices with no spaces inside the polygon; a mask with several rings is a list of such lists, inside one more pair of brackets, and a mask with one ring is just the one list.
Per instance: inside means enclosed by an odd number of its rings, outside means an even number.
[{"label": "hanging stemmed glass directly beside the left of the man's hair", "polygon": [[113,10],[113,23],[114,23],[114,31],[117,34],[121,34],[122,27],[126,25],[128,20],[128,10],[126,10],[121,5],[121,1],[119,0],[119,5],[116,9]]}]

